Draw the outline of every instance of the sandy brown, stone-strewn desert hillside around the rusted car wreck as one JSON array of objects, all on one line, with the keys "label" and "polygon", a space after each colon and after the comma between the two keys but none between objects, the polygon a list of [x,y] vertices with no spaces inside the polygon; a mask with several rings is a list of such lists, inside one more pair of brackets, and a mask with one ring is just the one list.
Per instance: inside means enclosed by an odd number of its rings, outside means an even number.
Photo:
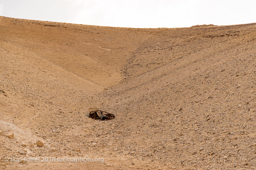
[{"label": "sandy brown, stone-strewn desert hillside around the rusted car wreck", "polygon": [[[256,24],[135,29],[0,17],[0,43],[0,169],[256,166]],[[93,109],[116,118],[85,117]]]}]

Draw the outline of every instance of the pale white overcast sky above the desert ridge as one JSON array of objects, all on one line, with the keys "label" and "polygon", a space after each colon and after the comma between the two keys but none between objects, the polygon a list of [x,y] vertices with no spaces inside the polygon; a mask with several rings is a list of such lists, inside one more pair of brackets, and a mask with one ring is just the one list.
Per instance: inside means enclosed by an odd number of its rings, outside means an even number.
[{"label": "pale white overcast sky above the desert ridge", "polygon": [[256,22],[256,0],[0,0],[0,16],[133,28],[235,25]]}]

